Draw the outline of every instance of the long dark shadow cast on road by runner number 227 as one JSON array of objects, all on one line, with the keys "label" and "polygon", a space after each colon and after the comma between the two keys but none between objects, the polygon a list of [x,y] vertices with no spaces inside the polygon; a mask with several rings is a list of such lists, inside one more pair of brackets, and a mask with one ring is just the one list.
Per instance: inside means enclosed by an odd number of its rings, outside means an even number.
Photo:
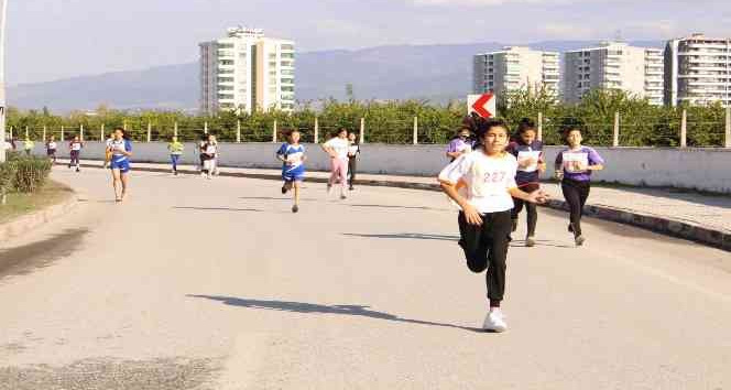
[{"label": "long dark shadow cast on road by runner number 227", "polygon": [[306,314],[353,315],[353,316],[362,316],[362,317],[377,318],[377,319],[393,321],[399,323],[452,327],[457,329],[479,332],[479,333],[484,332],[481,328],[469,327],[469,326],[459,326],[452,324],[435,323],[430,321],[402,318],[393,314],[372,311],[369,308],[369,306],[364,305],[320,305],[317,303],[247,300],[240,297],[216,296],[216,295],[187,295],[187,296],[211,300],[231,306],[248,307],[248,308],[272,310],[272,311],[291,312],[291,313],[306,313]]}]

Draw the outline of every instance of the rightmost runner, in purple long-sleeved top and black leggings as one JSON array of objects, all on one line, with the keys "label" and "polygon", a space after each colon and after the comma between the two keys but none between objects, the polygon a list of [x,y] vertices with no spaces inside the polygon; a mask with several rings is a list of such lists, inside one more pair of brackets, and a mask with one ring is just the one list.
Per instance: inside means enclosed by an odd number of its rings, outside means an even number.
[{"label": "rightmost runner, in purple long-sleeved top and black leggings", "polygon": [[556,156],[556,178],[561,181],[561,191],[571,210],[568,231],[580,247],[586,241],[581,234],[583,205],[591,189],[591,172],[604,169],[604,160],[596,150],[581,145],[581,130],[577,126],[564,129],[564,141],[568,149]]}]

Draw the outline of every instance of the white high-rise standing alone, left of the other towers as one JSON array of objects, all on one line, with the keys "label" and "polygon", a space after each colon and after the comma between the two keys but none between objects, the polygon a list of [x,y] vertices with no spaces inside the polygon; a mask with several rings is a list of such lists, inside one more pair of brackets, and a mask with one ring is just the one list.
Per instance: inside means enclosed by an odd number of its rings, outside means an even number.
[{"label": "white high-rise standing alone, left of the other towers", "polygon": [[200,109],[294,109],[294,42],[262,30],[228,29],[227,37],[200,43]]}]

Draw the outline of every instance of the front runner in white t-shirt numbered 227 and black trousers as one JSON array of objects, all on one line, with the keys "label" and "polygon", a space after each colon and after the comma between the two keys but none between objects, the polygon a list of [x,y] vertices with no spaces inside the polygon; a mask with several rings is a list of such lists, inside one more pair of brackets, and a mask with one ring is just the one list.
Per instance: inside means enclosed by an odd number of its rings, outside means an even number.
[{"label": "front runner in white t-shirt numbered 227 and black trousers", "polygon": [[[487,272],[490,310],[482,327],[503,332],[508,328],[500,310],[505,294],[505,268],[511,230],[513,198],[544,203],[542,191],[526,193],[515,184],[517,161],[505,152],[508,128],[501,120],[490,120],[477,134],[481,143],[439,174],[441,188],[461,208],[458,224],[459,246],[465,250],[470,271]],[[463,183],[465,193],[458,191]]]}]

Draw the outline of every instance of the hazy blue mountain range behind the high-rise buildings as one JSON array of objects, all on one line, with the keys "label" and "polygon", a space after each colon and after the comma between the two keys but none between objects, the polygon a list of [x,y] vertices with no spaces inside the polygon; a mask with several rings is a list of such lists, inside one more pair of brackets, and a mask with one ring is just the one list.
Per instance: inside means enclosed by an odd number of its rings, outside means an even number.
[{"label": "hazy blue mountain range behind the high-rise buildings", "polygon": [[[545,41],[527,46],[565,52],[596,44],[596,41]],[[664,43],[630,44],[662,47]],[[357,99],[418,98],[444,102],[463,98],[471,89],[472,56],[504,46],[504,43],[485,42],[298,53],[296,98],[342,99],[347,84],[352,84]],[[55,112],[94,109],[101,104],[117,109],[194,111],[198,107],[198,91],[196,62],[10,86],[8,104],[21,109],[45,106]]]}]

